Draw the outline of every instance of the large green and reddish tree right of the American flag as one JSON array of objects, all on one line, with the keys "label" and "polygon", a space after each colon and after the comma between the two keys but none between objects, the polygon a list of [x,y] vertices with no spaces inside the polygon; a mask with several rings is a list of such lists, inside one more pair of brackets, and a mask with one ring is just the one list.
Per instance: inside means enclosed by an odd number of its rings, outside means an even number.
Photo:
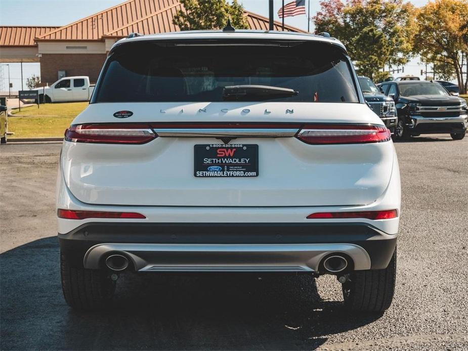
[{"label": "large green and reddish tree right of the American flag", "polygon": [[316,31],[341,40],[359,74],[381,80],[386,64],[404,65],[416,32],[414,7],[403,0],[322,0],[313,17]]}]

